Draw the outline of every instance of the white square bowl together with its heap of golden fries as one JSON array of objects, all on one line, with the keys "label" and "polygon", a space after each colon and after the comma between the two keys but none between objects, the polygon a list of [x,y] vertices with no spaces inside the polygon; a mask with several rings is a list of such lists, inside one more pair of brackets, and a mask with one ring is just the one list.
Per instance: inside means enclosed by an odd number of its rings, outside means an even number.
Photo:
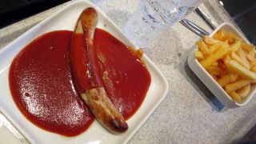
[{"label": "white square bowl together with its heap of golden fries", "polygon": [[196,43],[188,63],[220,102],[234,108],[256,93],[255,46],[228,23]]}]

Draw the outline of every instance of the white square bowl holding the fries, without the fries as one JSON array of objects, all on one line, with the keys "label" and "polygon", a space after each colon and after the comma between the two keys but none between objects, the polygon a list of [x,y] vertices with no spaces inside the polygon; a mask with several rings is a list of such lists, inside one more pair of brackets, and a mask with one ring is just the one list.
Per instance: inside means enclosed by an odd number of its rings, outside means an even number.
[{"label": "white square bowl holding the fries, without the fries", "polygon": [[[210,37],[212,37],[218,30],[230,31],[233,34],[236,34],[238,37],[242,38],[245,42],[248,42],[248,40],[229,23],[222,23],[222,25],[218,26],[218,28],[214,30],[212,34],[210,34]],[[197,49],[198,47],[196,47],[194,51]],[[242,102],[234,102],[234,100],[230,98],[229,94],[227,94],[226,91],[218,85],[218,82],[216,82],[214,78],[212,78],[210,74],[200,65],[198,60],[194,57],[194,51],[188,58],[190,69],[194,72],[194,74],[198,76],[198,78],[206,85],[206,87],[214,94],[214,96],[218,98],[220,102],[222,102],[222,104],[229,108],[235,108],[239,106],[245,106],[248,102],[250,102],[250,99],[253,98],[254,94],[256,93],[255,85],[251,86],[250,93],[246,96],[246,98],[242,99]]]}]

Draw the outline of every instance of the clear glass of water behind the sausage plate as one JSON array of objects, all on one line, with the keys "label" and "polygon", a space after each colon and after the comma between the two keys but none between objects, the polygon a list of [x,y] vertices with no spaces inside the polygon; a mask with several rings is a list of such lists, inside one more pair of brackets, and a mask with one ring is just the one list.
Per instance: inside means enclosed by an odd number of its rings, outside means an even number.
[{"label": "clear glass of water behind the sausage plate", "polygon": [[140,0],[128,18],[124,33],[140,48],[146,48],[155,36],[190,14],[203,0]]}]

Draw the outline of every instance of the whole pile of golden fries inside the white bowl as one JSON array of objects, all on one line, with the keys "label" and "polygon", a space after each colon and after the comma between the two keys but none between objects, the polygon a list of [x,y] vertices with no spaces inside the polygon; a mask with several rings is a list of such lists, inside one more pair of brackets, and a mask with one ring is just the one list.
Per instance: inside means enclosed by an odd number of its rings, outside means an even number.
[{"label": "whole pile of golden fries inside the white bowl", "polygon": [[223,30],[213,38],[204,36],[197,45],[198,62],[235,102],[242,102],[256,82],[255,46]]}]

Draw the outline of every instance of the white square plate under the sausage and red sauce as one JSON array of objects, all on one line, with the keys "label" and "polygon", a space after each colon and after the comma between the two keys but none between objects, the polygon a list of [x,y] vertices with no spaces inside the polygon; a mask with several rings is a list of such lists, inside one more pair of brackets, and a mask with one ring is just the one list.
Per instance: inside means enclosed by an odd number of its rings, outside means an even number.
[{"label": "white square plate under the sausage and red sauce", "polygon": [[10,63],[20,50],[28,43],[33,41],[38,36],[53,30],[74,30],[79,14],[86,7],[94,7],[98,11],[98,28],[102,28],[114,35],[120,41],[128,46],[135,47],[126,36],[106,17],[101,10],[89,2],[82,0],[71,2],[68,6],[53,14],[50,18],[46,18],[37,26],[22,34],[19,38],[11,42],[0,51],[0,110],[6,115],[6,118],[32,143],[125,143],[133,136],[150,114],[156,109],[163,98],[166,97],[168,84],[166,78],[154,66],[149,58],[143,54],[142,61],[145,62],[151,75],[150,89],[146,94],[146,98],[142,106],[127,122],[129,130],[125,134],[114,135],[105,130],[97,121],[94,121],[92,126],[82,134],[76,137],[65,137],[59,134],[54,134],[46,130],[42,130],[28,121],[18,110],[14,104],[10,94],[8,74]]}]

